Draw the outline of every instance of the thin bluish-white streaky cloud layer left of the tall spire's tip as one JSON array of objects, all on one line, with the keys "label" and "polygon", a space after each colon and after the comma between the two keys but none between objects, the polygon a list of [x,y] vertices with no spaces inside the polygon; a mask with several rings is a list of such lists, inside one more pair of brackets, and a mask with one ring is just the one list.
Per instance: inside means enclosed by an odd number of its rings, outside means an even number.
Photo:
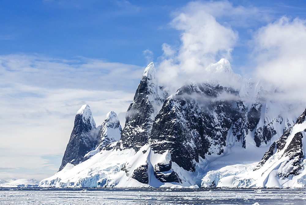
[{"label": "thin bluish-white streaky cloud layer left of the tall spire's tip", "polygon": [[89,90],[124,90],[137,87],[143,68],[77,57],[54,59],[39,55],[0,56],[0,75],[5,81],[38,87]]}]

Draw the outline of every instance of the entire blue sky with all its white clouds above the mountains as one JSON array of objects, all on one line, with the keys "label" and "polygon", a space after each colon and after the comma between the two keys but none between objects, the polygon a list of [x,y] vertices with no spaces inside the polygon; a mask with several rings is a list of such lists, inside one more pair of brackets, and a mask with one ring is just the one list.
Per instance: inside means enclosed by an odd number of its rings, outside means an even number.
[{"label": "entire blue sky with all its white clouds above the mountains", "polygon": [[124,124],[151,61],[175,88],[220,58],[306,86],[306,1],[2,0],[0,14],[2,179],[54,174],[85,103],[97,125],[110,110]]}]

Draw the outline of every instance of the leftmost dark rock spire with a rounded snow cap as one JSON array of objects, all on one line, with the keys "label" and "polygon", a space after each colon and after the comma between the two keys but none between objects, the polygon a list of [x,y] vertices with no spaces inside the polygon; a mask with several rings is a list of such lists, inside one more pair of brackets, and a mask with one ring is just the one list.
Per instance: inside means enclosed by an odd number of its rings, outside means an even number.
[{"label": "leftmost dark rock spire with a rounded snow cap", "polygon": [[76,165],[88,159],[84,156],[95,148],[97,144],[97,141],[93,140],[90,136],[92,129],[95,129],[95,122],[91,116],[90,108],[87,105],[84,106],[84,112],[82,114],[76,114],[70,140],[58,171],[61,171],[67,163]]}]

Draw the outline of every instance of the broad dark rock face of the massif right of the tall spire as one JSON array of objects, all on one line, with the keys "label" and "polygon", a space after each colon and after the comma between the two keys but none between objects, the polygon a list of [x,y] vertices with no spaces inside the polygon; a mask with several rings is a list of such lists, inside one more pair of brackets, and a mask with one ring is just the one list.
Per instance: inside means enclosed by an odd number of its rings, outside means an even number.
[{"label": "broad dark rock face of the massif right of the tall spire", "polygon": [[205,154],[221,154],[236,109],[232,107],[233,101],[216,100],[222,93],[237,97],[237,91],[220,85],[181,87],[165,101],[155,118],[151,149],[160,154],[168,149],[173,162],[192,172],[193,160],[199,162],[199,157],[205,158]]}]

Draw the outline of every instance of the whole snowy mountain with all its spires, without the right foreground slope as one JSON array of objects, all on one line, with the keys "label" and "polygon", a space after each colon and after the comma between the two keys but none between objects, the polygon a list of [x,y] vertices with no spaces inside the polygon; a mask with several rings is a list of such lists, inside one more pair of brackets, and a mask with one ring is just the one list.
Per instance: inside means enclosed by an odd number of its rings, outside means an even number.
[{"label": "whole snowy mountain with all its spires, without the right foreground slope", "polygon": [[[195,76],[169,96],[149,64],[122,132],[112,112],[96,129],[91,112],[84,117],[78,111],[65,168],[62,164],[62,171],[39,186],[247,187],[253,181],[236,176],[256,172],[264,153],[289,132],[305,104],[278,101],[277,87],[243,79],[226,59],[206,71],[208,78]],[[82,126],[87,129],[77,129]],[[89,140],[92,144],[83,149]]]}]

